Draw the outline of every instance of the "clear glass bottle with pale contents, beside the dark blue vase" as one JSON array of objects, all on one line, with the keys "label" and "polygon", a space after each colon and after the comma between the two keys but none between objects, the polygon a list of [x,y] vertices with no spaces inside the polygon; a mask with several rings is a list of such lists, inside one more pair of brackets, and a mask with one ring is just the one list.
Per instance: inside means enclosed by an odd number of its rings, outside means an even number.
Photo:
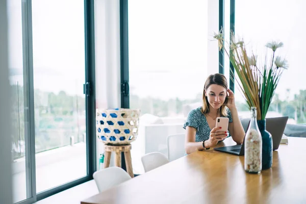
[{"label": "clear glass bottle with pale contents, beside the dark blue vase", "polygon": [[257,124],[256,107],[251,107],[251,120],[244,140],[244,170],[260,173],[262,170],[262,137]]}]

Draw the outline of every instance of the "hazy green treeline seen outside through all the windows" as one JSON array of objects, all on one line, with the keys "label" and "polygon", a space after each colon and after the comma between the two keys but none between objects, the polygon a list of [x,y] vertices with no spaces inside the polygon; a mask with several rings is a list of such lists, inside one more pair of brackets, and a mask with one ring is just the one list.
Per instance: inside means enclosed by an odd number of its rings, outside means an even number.
[{"label": "hazy green treeline seen outside through all the windows", "polygon": [[[18,141],[24,141],[25,131],[23,87],[14,85],[11,88],[12,140],[13,144],[19,147]],[[290,95],[290,90],[287,92]],[[77,142],[82,139],[82,135],[86,133],[84,97],[68,95],[63,91],[55,94],[40,90],[34,91],[34,97],[36,152],[68,145],[71,135]],[[149,113],[160,117],[182,116],[184,105],[201,103],[201,101],[201,93],[195,95],[193,99],[184,100],[178,97],[162,100],[130,95],[131,108],[141,109],[141,114]],[[236,101],[236,107],[238,111],[248,111],[245,103]],[[300,90],[299,94],[294,96],[294,100],[288,98],[280,100],[278,94],[275,94],[269,111],[282,113],[297,120],[298,123],[306,123],[306,90]],[[15,158],[24,156],[24,152],[19,150],[13,154]]]}]

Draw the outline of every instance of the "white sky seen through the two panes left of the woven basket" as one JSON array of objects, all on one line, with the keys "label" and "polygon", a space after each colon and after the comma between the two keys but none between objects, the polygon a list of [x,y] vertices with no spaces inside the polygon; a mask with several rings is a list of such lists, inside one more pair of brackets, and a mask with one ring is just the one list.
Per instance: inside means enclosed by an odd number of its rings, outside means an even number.
[{"label": "white sky seen through the two panes left of the woven basket", "polygon": [[[20,0],[8,1],[8,19],[11,84],[17,81],[22,84]],[[34,88],[82,95],[85,81],[84,1],[32,0],[32,19]]]}]

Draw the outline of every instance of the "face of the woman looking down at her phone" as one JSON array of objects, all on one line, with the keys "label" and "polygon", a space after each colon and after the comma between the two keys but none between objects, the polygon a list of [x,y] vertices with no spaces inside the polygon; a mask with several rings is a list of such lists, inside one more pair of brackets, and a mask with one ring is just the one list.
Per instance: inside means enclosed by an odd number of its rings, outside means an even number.
[{"label": "face of the woman looking down at her phone", "polygon": [[212,84],[205,90],[208,103],[214,109],[220,108],[226,99],[226,89],[223,86]]}]

